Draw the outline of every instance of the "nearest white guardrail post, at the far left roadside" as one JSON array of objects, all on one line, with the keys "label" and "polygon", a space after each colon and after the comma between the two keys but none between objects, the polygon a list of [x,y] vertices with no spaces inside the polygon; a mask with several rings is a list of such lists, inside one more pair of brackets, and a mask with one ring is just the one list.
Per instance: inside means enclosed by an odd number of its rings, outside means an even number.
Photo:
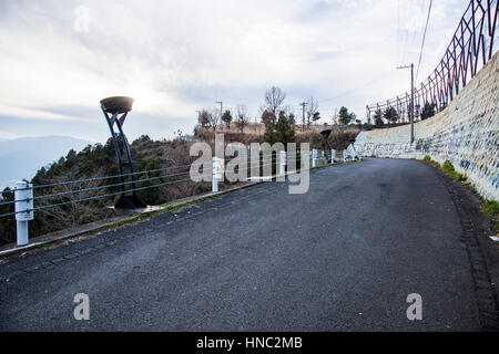
[{"label": "nearest white guardrail post, at the far left roadside", "polygon": [[29,242],[28,221],[33,220],[33,185],[16,183],[14,199],[18,246],[24,246]]}]

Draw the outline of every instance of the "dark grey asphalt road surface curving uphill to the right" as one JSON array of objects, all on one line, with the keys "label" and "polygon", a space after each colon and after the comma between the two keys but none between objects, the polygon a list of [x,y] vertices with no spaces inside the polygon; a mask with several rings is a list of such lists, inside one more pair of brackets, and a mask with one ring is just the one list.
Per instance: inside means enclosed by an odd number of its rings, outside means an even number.
[{"label": "dark grey asphalt road surface curving uphill to the right", "polygon": [[460,238],[431,167],[366,159],[0,266],[0,330],[478,331]]}]

